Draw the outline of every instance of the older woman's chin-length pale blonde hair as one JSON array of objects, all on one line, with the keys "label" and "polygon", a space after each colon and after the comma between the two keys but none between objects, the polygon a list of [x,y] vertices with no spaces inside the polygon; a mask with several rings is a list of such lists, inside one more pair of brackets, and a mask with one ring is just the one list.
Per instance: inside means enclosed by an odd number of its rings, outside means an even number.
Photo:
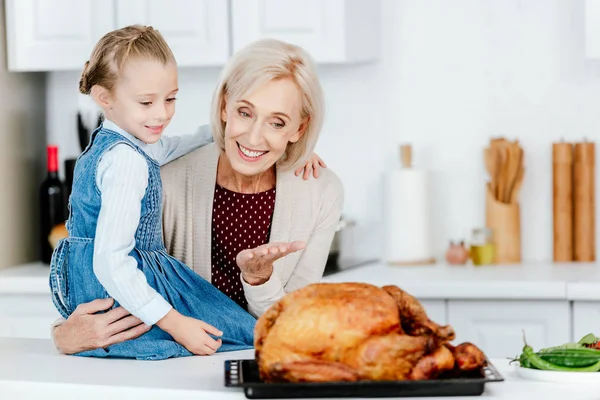
[{"label": "older woman's chin-length pale blonde hair", "polygon": [[274,39],[250,43],[235,53],[221,72],[211,104],[211,126],[215,143],[225,149],[225,122],[221,112],[226,101],[237,101],[273,80],[291,79],[302,96],[301,117],[308,119],[304,134],[288,143],[277,162],[292,169],[304,163],[314,151],[323,126],[325,100],[312,57],[301,47]]}]

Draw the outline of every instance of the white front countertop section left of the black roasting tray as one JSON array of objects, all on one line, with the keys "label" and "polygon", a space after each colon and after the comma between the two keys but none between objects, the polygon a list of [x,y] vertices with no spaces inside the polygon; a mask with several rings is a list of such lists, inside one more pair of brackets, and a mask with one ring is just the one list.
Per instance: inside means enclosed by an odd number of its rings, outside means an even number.
[{"label": "white front countertop section left of the black roasting tray", "polygon": [[49,339],[0,338],[0,354],[1,399],[218,400],[245,397],[242,389],[225,386],[224,362],[250,359],[254,350],[138,361],[66,356]]}]

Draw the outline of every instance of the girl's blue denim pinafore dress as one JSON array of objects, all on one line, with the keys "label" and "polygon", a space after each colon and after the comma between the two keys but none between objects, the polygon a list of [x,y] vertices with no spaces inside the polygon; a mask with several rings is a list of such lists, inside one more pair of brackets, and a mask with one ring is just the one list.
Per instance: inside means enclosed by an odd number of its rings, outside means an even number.
[{"label": "girl's blue denim pinafore dress", "polygon": [[[93,269],[94,235],[101,204],[96,171],[102,156],[120,143],[142,154],[149,169],[135,248],[129,255],[136,259],[148,284],[177,311],[223,332],[223,344],[218,352],[252,348],[256,319],[191,268],[167,254],[162,234],[162,181],[158,163],[123,135],[102,126],[94,131],[75,166],[66,224],[69,237],[59,242],[50,264],[55,307],[68,318],[79,304],[110,297]],[[115,301],[114,307],[117,306]],[[160,360],[192,354],[154,325],[139,338],[77,355]]]}]

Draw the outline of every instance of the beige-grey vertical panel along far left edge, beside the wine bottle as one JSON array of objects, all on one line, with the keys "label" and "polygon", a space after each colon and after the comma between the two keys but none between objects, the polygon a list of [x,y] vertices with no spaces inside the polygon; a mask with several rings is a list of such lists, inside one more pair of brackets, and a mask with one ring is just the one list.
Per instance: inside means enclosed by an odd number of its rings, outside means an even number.
[{"label": "beige-grey vertical panel along far left edge, beside the wine bottle", "polygon": [[6,69],[0,0],[0,268],[39,259],[38,197],[44,153],[43,74]]}]

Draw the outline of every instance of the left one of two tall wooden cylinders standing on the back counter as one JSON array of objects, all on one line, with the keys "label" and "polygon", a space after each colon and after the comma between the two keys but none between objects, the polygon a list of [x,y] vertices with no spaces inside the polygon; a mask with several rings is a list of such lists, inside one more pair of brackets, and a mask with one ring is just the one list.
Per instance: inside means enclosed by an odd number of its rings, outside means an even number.
[{"label": "left one of two tall wooden cylinders standing on the back counter", "polygon": [[573,261],[573,145],[552,144],[554,262]]}]

